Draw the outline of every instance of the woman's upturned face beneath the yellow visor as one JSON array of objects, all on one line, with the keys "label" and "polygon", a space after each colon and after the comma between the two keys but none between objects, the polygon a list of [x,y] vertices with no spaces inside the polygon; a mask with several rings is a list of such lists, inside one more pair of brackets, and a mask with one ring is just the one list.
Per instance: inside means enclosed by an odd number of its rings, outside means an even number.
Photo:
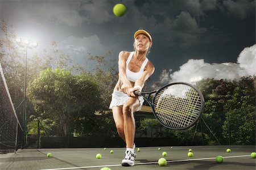
[{"label": "woman's upturned face beneath the yellow visor", "polygon": [[134,49],[137,51],[148,51],[151,45],[152,42],[150,42],[150,39],[144,34],[138,34],[134,39]]}]

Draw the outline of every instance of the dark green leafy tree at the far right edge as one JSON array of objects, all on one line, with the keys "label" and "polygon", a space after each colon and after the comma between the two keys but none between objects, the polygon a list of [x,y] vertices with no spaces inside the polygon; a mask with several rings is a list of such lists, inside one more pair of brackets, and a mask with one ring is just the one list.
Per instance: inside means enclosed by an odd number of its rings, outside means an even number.
[{"label": "dark green leafy tree at the far right edge", "polygon": [[232,144],[255,144],[255,77],[242,77],[224,109],[222,126],[225,139]]}]

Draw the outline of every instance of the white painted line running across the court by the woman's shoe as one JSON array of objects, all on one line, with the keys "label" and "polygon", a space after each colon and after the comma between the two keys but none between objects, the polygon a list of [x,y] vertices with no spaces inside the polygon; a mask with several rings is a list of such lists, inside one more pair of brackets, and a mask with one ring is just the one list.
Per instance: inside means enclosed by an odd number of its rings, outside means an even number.
[{"label": "white painted line running across the court by the woman's shoe", "polygon": [[[250,155],[240,155],[240,156],[223,156],[224,158],[231,158],[231,157],[246,157]],[[207,158],[198,158],[198,159],[184,159],[184,160],[169,160],[167,163],[179,162],[179,161],[194,161],[194,160],[208,160],[208,159],[216,159],[216,157],[207,157]],[[137,163],[135,165],[146,165],[146,164],[156,164],[158,161],[152,161],[148,163]],[[54,169],[40,169],[40,170],[65,170],[65,169],[80,169],[80,168],[100,168],[100,167],[119,167],[121,164],[117,165],[95,165],[89,167],[72,167],[72,168],[54,168]]]}]

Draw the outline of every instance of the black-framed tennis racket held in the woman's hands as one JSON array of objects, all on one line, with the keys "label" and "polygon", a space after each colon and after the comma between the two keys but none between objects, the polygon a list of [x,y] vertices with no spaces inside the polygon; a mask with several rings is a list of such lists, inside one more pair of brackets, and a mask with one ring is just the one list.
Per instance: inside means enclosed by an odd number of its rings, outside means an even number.
[{"label": "black-framed tennis racket held in the woman's hands", "polygon": [[[155,93],[150,102],[151,94]],[[155,118],[165,127],[183,130],[193,126],[204,110],[203,94],[185,82],[175,82],[152,92],[135,91],[151,106]],[[148,97],[144,97],[148,94]]]}]

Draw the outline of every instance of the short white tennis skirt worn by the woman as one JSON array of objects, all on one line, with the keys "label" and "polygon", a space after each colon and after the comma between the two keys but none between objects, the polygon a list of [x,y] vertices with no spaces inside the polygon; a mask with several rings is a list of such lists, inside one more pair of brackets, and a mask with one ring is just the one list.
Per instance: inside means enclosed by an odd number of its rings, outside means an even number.
[{"label": "short white tennis skirt worn by the woman", "polygon": [[[114,92],[112,93],[112,101],[110,102],[110,106],[109,109],[112,109],[113,106],[121,106],[124,105],[128,100],[129,100],[129,96],[123,92],[114,90]],[[137,111],[141,110],[141,107],[143,105],[144,99],[141,96],[138,96],[139,99],[139,107],[137,109]]]}]

